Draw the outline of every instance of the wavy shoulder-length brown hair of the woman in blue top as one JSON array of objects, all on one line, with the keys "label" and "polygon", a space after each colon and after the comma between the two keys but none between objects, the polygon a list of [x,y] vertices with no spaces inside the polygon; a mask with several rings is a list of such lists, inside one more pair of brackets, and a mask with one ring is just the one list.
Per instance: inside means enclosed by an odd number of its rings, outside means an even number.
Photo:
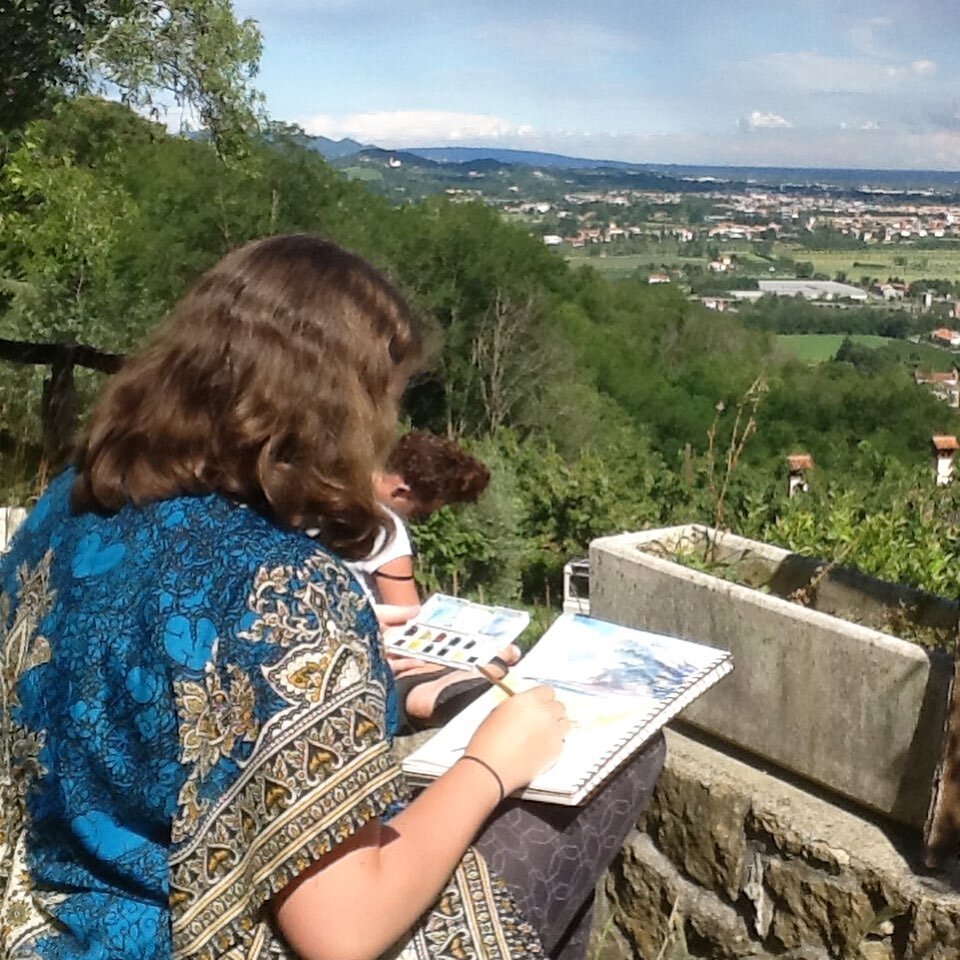
[{"label": "wavy shoulder-length brown hair of the woman in blue top", "polygon": [[420,349],[366,260],[306,234],[249,243],[108,383],[75,453],[74,510],[216,492],[364,556],[383,525],[372,473]]}]

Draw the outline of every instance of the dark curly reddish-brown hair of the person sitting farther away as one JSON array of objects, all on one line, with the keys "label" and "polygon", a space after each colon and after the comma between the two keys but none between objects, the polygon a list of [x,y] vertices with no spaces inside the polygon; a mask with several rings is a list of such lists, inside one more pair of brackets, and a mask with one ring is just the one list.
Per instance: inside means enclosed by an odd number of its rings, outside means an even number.
[{"label": "dark curly reddish-brown hair of the person sitting farther away", "polygon": [[403,477],[423,503],[474,503],[487,489],[490,471],[452,440],[414,430],[404,434],[387,458],[387,470]]}]

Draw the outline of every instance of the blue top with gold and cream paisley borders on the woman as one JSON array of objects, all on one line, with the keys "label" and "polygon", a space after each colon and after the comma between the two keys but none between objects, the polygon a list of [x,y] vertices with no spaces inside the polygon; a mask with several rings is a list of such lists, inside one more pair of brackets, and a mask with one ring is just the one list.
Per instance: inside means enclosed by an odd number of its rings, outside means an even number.
[{"label": "blue top with gold and cream paisley borders on the woman", "polygon": [[[287,957],[269,899],[408,796],[370,605],[222,497],[74,516],[72,479],[0,563],[0,955]],[[542,949],[468,851],[393,954]]]}]

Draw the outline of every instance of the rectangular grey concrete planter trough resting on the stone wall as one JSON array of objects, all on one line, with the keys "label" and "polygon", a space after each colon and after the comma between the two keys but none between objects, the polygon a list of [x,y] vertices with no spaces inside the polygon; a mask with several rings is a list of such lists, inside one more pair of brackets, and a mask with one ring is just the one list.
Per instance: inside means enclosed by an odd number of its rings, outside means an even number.
[{"label": "rectangular grey concrete planter trough resting on the stone wall", "polygon": [[[769,592],[667,559],[708,537],[720,562]],[[836,568],[804,606],[784,597],[810,582],[818,561],[695,525],[595,540],[590,563],[594,616],[733,653],[733,673],[684,720],[893,820],[923,825],[952,657],[868,624],[952,631],[954,603]]]}]

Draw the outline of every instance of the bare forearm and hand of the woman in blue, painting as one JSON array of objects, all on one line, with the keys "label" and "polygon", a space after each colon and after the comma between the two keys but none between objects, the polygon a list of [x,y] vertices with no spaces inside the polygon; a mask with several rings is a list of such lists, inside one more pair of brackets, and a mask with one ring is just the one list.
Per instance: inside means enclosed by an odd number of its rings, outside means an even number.
[{"label": "bare forearm and hand of the woman in blue, painting", "polygon": [[[517,694],[484,721],[467,753],[511,793],[560,752],[569,727],[547,687]],[[457,762],[388,824],[371,821],[274,898],[303,960],[373,960],[430,906],[500,799],[483,765]]]}]

